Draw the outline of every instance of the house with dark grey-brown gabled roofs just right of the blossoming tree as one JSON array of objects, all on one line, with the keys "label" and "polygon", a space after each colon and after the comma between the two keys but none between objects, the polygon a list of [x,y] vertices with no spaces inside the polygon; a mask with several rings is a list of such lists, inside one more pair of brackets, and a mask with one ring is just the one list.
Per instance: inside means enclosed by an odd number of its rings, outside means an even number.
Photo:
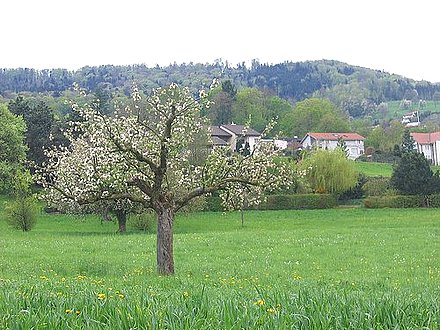
[{"label": "house with dark grey-brown gabled roofs just right of the blossoming tree", "polygon": [[211,126],[210,133],[213,147],[229,145],[233,151],[236,149],[237,142],[243,147],[248,144],[252,151],[261,139],[261,134],[256,130],[236,124]]}]

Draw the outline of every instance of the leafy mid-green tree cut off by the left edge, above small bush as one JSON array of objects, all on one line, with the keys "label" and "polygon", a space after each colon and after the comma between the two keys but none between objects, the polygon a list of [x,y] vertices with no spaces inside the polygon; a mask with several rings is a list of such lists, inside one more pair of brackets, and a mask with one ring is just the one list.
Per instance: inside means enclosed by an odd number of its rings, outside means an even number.
[{"label": "leafy mid-green tree cut off by the left edge, above small bush", "polygon": [[0,192],[11,192],[17,171],[24,166],[26,124],[0,104]]}]

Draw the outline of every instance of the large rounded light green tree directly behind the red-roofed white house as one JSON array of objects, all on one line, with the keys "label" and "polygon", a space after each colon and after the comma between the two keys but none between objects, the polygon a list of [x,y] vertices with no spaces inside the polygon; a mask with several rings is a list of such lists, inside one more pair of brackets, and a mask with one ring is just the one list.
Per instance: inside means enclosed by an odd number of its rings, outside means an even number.
[{"label": "large rounded light green tree directly behind the red-roofed white house", "polygon": [[346,116],[329,100],[318,98],[298,102],[282,119],[281,128],[288,135],[299,137],[307,132],[350,131]]}]

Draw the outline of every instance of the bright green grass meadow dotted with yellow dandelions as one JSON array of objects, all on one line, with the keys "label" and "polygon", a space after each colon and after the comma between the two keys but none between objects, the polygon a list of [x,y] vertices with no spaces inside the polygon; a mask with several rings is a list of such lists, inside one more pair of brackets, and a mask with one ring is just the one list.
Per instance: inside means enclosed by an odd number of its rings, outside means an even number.
[{"label": "bright green grass meadow dotted with yellow dandelions", "polygon": [[[1,219],[0,212],[0,219]],[[176,275],[154,233],[94,217],[0,220],[0,329],[438,329],[437,210],[181,215]]]}]

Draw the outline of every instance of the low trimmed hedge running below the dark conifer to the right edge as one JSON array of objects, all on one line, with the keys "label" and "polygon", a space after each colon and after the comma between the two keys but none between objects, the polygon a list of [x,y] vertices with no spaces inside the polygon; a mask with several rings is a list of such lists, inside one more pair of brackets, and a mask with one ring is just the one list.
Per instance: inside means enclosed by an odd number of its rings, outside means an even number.
[{"label": "low trimmed hedge running below the dark conifer to the right edge", "polygon": [[366,208],[420,208],[440,207],[440,195],[397,195],[397,196],[371,196],[365,198]]}]

